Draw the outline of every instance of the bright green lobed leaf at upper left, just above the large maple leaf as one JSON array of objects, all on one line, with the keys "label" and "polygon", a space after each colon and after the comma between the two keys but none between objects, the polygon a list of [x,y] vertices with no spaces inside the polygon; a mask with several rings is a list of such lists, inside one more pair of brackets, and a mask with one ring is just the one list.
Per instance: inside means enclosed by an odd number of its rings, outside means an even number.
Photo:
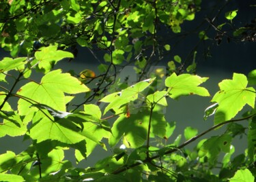
[{"label": "bright green lobed leaf at upper left, just above the large maple leaf", "polygon": [[57,50],[57,46],[55,45],[50,45],[35,52],[35,58],[39,61],[38,67],[44,69],[45,73],[48,73],[59,60],[63,58],[74,58],[74,55],[70,52]]}]

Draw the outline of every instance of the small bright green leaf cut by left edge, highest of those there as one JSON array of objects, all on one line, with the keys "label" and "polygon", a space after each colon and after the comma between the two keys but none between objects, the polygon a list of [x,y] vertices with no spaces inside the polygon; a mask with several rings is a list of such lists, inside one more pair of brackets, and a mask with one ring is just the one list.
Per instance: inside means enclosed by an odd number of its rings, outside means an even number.
[{"label": "small bright green leaf cut by left edge, highest of those there", "polygon": [[12,69],[16,69],[18,67],[21,67],[26,64],[27,58],[20,57],[20,58],[3,58],[3,60],[0,61],[0,74],[5,71],[10,71]]}]

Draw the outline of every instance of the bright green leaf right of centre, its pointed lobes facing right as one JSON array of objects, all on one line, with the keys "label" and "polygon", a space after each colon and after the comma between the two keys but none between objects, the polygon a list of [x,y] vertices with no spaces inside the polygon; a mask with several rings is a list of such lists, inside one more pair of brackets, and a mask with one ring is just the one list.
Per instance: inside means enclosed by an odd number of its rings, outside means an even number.
[{"label": "bright green leaf right of centre, its pointed lobes facing right", "polygon": [[169,96],[173,99],[184,95],[197,94],[199,96],[210,96],[208,90],[199,85],[205,82],[208,77],[199,77],[197,75],[173,73],[165,79],[165,86],[169,87]]}]

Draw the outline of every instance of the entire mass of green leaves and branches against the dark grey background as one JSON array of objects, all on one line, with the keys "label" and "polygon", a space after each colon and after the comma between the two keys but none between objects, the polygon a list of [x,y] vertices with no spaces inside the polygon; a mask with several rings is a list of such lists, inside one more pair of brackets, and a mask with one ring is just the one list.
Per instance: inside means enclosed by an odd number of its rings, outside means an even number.
[{"label": "entire mass of green leaves and branches against the dark grey background", "polygon": [[[0,4],[1,47],[12,56],[0,62],[0,137],[23,136],[31,141],[21,153],[0,155],[1,180],[254,181],[256,70],[247,77],[233,73],[232,79],[219,83],[204,116],[206,120],[214,115],[214,126],[201,133],[188,126],[184,134],[165,144],[176,125],[165,120],[167,101],[210,96],[201,86],[208,77],[193,74],[196,50],[186,60],[174,54],[166,70],[152,70],[171,52],[160,29],[165,26],[173,34],[181,33],[181,25],[201,10],[200,0],[9,0]],[[223,37],[254,41],[255,25],[237,27],[232,36],[223,30],[237,14],[239,10],[225,12],[227,22],[218,26],[206,18],[210,26],[197,30],[200,41],[210,40],[211,27],[217,31],[217,44]],[[72,64],[79,46],[100,60],[99,74],[54,68],[63,59]],[[129,77],[119,78],[128,65],[137,74],[135,83]],[[40,81],[33,74],[40,75]],[[16,103],[11,104],[11,98]],[[236,117],[245,105],[248,112]],[[246,128],[236,123],[242,120],[248,120]],[[222,134],[196,141],[225,125]],[[238,135],[247,138],[248,148],[232,156]],[[186,149],[190,143],[195,147]],[[113,153],[99,158],[95,166],[77,168],[65,158],[64,151],[75,149],[79,163],[97,146]],[[218,174],[216,168],[221,168]]]}]

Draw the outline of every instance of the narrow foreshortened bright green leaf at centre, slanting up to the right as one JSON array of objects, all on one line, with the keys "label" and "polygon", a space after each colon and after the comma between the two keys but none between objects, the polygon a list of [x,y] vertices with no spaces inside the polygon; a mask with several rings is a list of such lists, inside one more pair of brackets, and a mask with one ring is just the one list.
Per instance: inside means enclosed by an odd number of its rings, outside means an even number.
[{"label": "narrow foreshortened bright green leaf at centre, slanting up to the right", "polygon": [[125,105],[127,103],[130,103],[130,101],[135,101],[139,93],[145,90],[155,78],[152,79],[145,79],[143,81],[138,82],[137,84],[134,84],[133,86],[130,86],[122,92],[115,92],[111,94],[111,96],[106,96],[106,98],[102,98],[100,102],[104,103],[110,103],[104,110],[104,114],[109,111],[110,109],[119,109],[122,105]]}]

